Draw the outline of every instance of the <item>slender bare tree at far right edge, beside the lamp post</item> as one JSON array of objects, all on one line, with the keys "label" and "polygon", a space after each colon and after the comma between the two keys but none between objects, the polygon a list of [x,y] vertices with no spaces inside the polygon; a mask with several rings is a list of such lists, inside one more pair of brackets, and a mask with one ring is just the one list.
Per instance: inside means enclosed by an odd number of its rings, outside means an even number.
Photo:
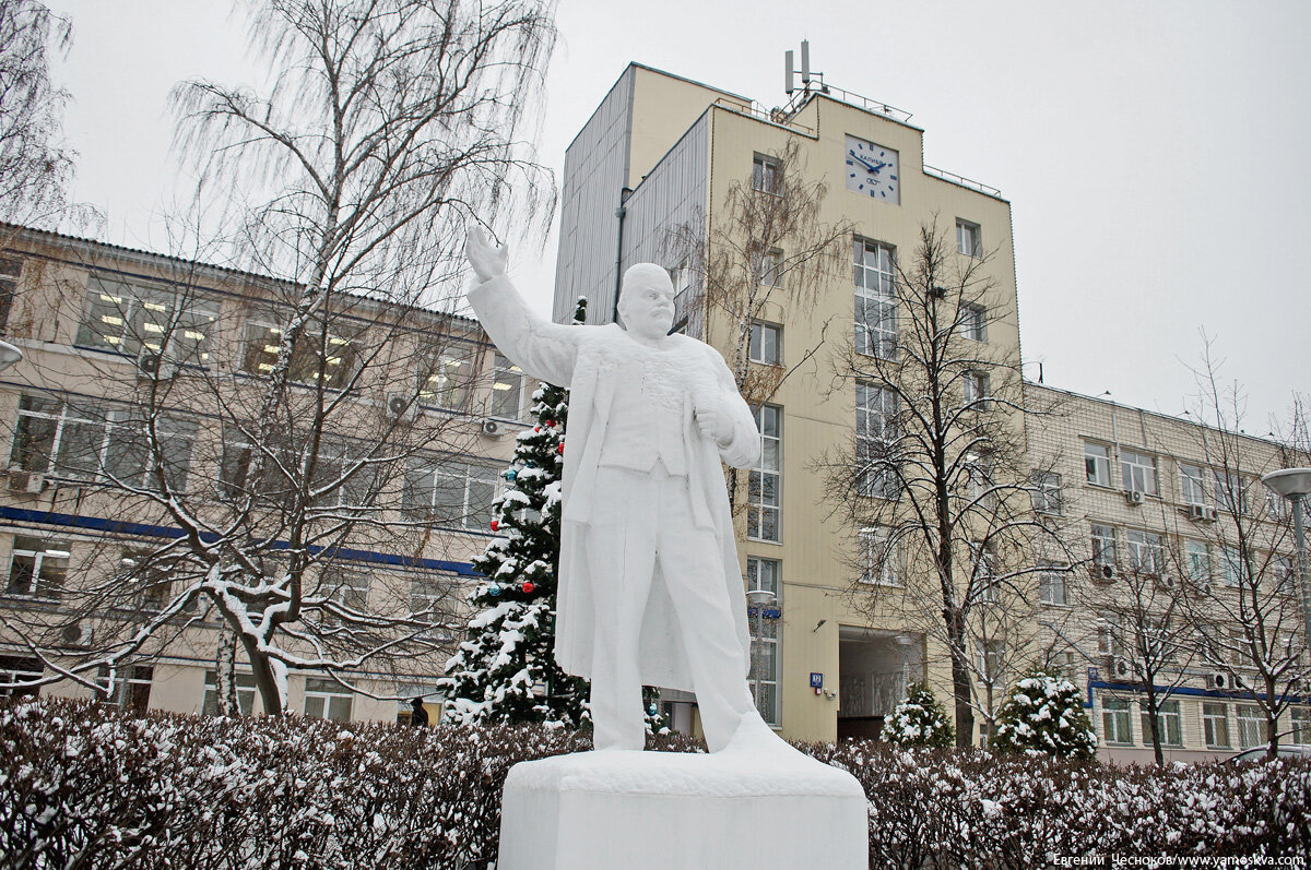
[{"label": "slender bare tree at far right edge, beside the lamp post", "polygon": [[[1190,415],[1201,423],[1197,448],[1205,495],[1218,514],[1201,532],[1205,550],[1186,566],[1196,596],[1192,625],[1200,654],[1230,685],[1260,708],[1269,757],[1278,751],[1278,718],[1311,680],[1302,635],[1301,586],[1294,570],[1287,506],[1265,491],[1261,474],[1304,466],[1304,443],[1257,445],[1243,432],[1245,396],[1222,385],[1221,363],[1205,341],[1197,369],[1198,398]],[[1294,409],[1297,411],[1297,407]],[[1291,434],[1304,431],[1294,413]],[[1214,578],[1214,579],[1213,579]]]}]

